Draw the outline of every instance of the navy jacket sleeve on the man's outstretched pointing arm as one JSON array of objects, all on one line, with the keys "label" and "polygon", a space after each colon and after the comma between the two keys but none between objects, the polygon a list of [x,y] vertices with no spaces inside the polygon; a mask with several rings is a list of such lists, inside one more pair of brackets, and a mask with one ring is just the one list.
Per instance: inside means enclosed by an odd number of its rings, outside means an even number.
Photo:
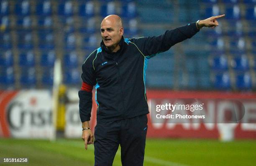
[{"label": "navy jacket sleeve on the man's outstretched pointing arm", "polygon": [[136,44],[144,56],[151,56],[169,50],[176,43],[191,38],[198,31],[196,23],[189,23],[185,26],[168,30],[160,36],[133,38],[131,42]]}]

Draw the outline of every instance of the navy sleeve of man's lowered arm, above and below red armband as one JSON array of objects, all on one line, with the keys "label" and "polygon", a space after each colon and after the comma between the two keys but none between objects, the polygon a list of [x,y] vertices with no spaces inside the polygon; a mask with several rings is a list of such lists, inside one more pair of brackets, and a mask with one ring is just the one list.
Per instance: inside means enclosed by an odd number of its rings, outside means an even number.
[{"label": "navy sleeve of man's lowered arm, above and below red armband", "polygon": [[[90,55],[91,56],[91,55]],[[91,57],[88,57],[82,65],[82,80],[91,85],[96,84],[95,70],[92,66]],[[79,115],[82,122],[89,121],[92,111],[92,92],[79,90]]]}]

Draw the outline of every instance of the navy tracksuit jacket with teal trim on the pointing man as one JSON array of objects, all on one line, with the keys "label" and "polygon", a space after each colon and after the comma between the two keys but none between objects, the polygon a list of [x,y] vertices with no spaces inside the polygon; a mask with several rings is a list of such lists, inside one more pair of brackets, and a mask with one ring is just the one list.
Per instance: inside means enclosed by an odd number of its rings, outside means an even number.
[{"label": "navy tracksuit jacket with teal trim on the pointing man", "polygon": [[[148,113],[146,97],[146,69],[148,60],[174,44],[194,36],[199,30],[190,23],[163,35],[123,38],[120,50],[111,53],[103,41],[82,65],[82,80],[95,86],[97,122],[136,117]],[[88,121],[92,110],[92,92],[79,91],[81,121]]]}]

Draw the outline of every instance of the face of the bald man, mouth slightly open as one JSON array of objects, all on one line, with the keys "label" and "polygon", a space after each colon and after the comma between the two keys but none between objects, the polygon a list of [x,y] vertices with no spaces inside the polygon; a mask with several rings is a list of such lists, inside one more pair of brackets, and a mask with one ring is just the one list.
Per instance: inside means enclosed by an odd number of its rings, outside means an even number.
[{"label": "face of the bald man, mouth slightly open", "polygon": [[116,47],[123,35],[123,28],[120,28],[116,21],[103,20],[100,27],[102,40],[106,47]]}]

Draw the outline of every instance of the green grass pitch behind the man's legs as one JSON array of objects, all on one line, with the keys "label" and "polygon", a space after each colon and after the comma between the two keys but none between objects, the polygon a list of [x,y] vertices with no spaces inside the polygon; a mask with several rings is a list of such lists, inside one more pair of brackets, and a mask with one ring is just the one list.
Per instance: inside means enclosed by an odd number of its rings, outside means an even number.
[{"label": "green grass pitch behind the man's legs", "polygon": [[[29,158],[29,164],[15,163],[15,166],[93,166],[94,148],[90,145],[85,151],[82,140],[59,139],[50,142],[2,138],[0,157]],[[255,165],[256,140],[220,142],[199,139],[147,139],[146,142],[144,166]],[[113,166],[121,166],[120,149]]]}]

